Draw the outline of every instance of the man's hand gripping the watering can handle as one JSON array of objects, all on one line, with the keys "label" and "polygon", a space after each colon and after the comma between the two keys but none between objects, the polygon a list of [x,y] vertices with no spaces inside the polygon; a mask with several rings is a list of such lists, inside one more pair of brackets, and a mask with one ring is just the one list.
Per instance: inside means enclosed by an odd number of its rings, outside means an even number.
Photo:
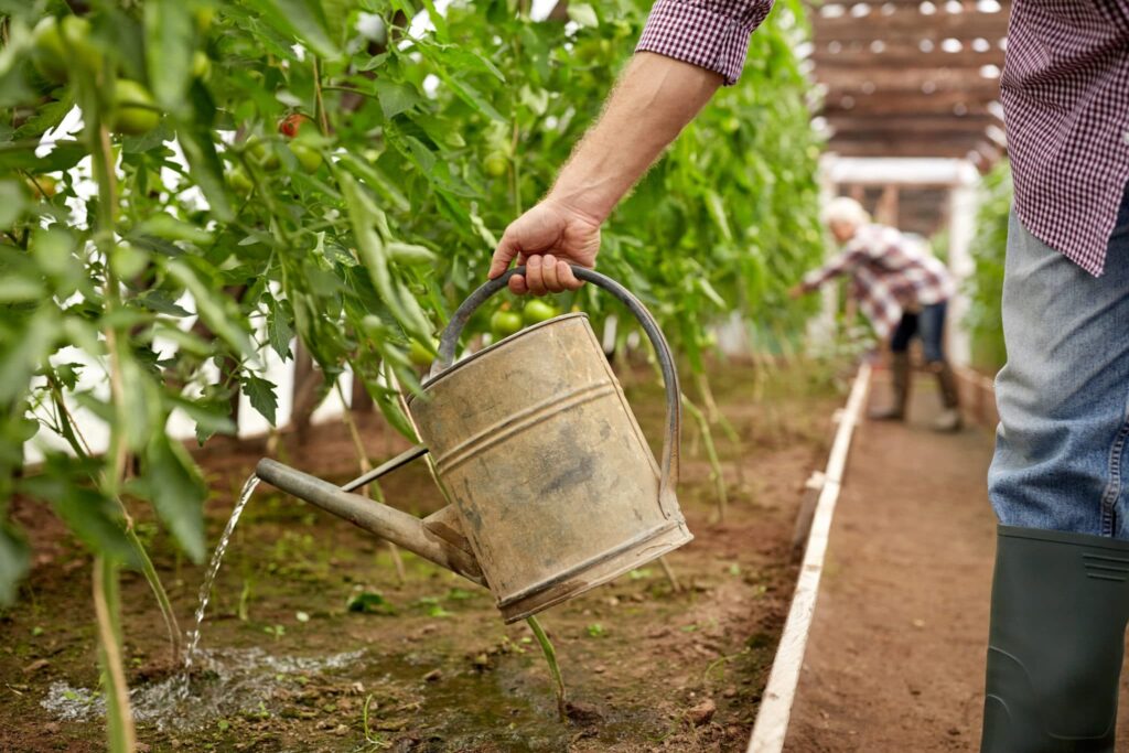
[{"label": "man's hand gripping the watering can handle", "polygon": [[509,289],[517,295],[576,290],[583,282],[576,279],[569,264],[593,269],[599,253],[599,220],[552,199],[514,220],[495,249],[490,279],[505,272],[511,261],[525,265],[525,275],[509,279]]}]

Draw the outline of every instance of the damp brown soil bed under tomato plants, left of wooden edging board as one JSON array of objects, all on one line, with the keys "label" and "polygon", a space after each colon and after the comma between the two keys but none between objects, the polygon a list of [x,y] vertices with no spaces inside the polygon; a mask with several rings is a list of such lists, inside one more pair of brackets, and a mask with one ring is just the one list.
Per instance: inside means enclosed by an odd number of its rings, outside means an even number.
[{"label": "damp brown soil bed under tomato plants, left of wooden edging board", "polygon": [[[669,562],[688,588],[672,593],[650,566],[543,614],[569,688],[568,721],[557,718],[528,629],[505,627],[489,594],[408,554],[399,584],[380,542],[264,485],[236,531],[204,624],[207,669],[192,690],[207,702],[170,701],[168,712],[140,721],[145,750],[744,750],[795,579],[788,549],[803,484],[823,465],[841,402],[825,367],[778,375],[756,402],[753,380],[737,366],[712,379],[737,434],[715,430],[729,491],[724,524],[703,443],[685,431],[680,499],[697,539]],[[657,440],[658,389],[639,373],[628,388]],[[402,447],[362,419],[375,455]],[[220,440],[198,453],[215,492],[211,542],[263,452],[261,440]],[[356,472],[338,424],[315,428],[303,447],[285,436],[277,456],[335,480]],[[422,465],[383,488],[418,514],[439,504]],[[65,683],[56,691],[70,701],[97,690],[89,555],[43,507],[17,500],[15,513],[35,560],[19,605],[0,614],[0,751],[103,750],[97,713],[68,720],[42,706],[53,683]],[[191,629],[202,568],[156,526],[142,519],[140,531],[181,628]],[[378,611],[394,615],[350,612],[361,593],[379,594]],[[159,688],[170,663],[148,586],[126,572],[122,598],[131,685]]]}]

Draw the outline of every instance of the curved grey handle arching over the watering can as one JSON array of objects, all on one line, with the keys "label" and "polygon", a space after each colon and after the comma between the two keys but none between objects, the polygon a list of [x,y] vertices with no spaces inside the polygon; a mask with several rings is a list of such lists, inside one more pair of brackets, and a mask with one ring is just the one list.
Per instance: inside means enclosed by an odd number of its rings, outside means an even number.
[{"label": "curved grey handle arching over the watering can", "polygon": [[[639,319],[639,324],[642,325],[644,332],[647,333],[650,344],[655,348],[655,353],[658,357],[658,364],[663,371],[663,384],[666,387],[666,436],[663,439],[662,478],[658,488],[659,504],[665,508],[664,502],[667,493],[673,492],[675,484],[679,482],[679,437],[681,436],[682,428],[682,389],[679,387],[679,373],[674,368],[674,357],[671,354],[671,347],[666,343],[666,338],[663,336],[663,331],[658,329],[655,317],[651,316],[651,313],[647,310],[642,301],[636,298],[630,290],[599,272],[575,264],[571,266],[572,273],[578,280],[592,282],[597,288],[603,288],[613,298],[627,306],[634,317]],[[478,307],[487,298],[506,288],[511,277],[524,273],[524,266],[515,266],[501,277],[495,278],[481,286],[455,309],[450,322],[447,323],[446,329],[439,335],[439,357],[431,366],[431,371],[428,375],[429,379],[439,376],[454,361],[458,336]]]}]

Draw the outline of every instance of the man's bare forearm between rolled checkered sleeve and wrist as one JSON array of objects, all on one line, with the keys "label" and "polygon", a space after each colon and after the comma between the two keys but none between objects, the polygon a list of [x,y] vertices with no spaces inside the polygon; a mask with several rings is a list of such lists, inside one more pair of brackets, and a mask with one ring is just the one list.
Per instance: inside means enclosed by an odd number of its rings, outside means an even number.
[{"label": "man's bare forearm between rolled checkered sleeve and wrist", "polygon": [[602,222],[721,82],[704,68],[638,53],[549,198]]}]

